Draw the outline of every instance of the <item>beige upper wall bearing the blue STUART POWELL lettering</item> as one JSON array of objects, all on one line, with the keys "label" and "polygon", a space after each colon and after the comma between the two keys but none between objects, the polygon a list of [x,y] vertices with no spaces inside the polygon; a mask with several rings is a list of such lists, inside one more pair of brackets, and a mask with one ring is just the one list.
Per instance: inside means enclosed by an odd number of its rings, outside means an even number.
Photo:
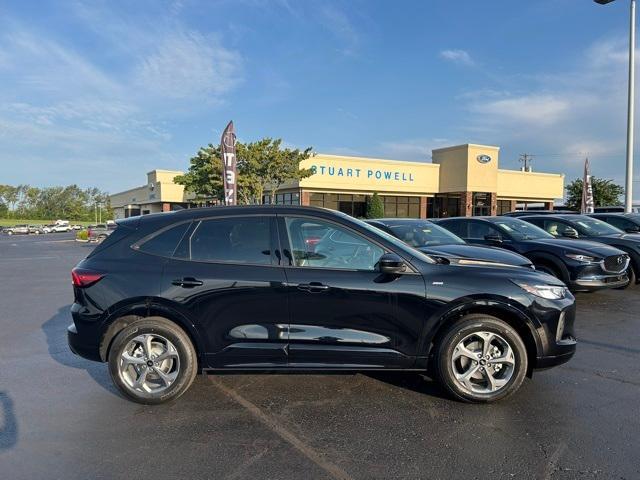
[{"label": "beige upper wall bearing the blue STUART POWELL lettering", "polygon": [[316,172],[300,181],[305,189],[422,195],[438,191],[440,167],[431,163],[318,154],[301,166]]}]

